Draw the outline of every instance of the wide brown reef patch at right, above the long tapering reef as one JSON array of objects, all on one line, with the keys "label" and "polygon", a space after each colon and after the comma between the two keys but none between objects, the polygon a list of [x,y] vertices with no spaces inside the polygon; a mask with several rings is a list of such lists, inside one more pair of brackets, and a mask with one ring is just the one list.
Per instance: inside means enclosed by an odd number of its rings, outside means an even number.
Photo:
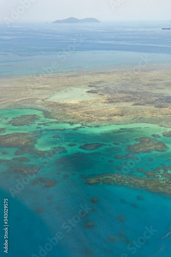
[{"label": "wide brown reef patch at right, above the long tapering reef", "polygon": [[167,146],[164,143],[150,137],[137,138],[136,141],[140,141],[140,143],[128,145],[128,152],[164,152],[167,149]]}]

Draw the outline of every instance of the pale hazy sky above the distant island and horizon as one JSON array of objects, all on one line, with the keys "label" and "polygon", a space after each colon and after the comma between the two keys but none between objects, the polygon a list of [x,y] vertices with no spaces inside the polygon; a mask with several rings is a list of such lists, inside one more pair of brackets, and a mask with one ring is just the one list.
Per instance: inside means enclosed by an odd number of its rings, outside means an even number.
[{"label": "pale hazy sky above the distant island and horizon", "polygon": [[[23,5],[22,5],[23,3]],[[171,21],[170,0],[0,0],[0,17],[44,21],[94,17],[100,21]]]}]

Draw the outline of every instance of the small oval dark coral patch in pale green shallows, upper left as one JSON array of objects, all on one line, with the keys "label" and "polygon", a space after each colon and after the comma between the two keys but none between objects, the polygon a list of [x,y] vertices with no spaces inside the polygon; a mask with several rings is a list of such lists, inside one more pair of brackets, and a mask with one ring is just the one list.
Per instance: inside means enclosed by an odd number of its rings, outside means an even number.
[{"label": "small oval dark coral patch in pale green shallows, upper left", "polygon": [[22,125],[32,124],[38,119],[39,117],[37,117],[34,114],[21,115],[21,116],[12,118],[9,121],[9,123],[12,124],[13,126],[22,126]]}]

